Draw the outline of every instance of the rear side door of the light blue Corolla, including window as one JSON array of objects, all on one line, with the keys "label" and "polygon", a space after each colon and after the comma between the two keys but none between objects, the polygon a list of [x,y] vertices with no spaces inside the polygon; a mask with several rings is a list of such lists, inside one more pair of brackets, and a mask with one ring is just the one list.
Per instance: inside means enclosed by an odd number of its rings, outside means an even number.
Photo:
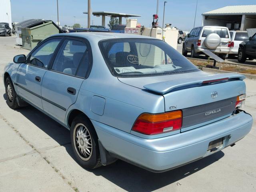
[{"label": "rear side door of the light blue Corolla, including window", "polygon": [[65,39],[42,82],[44,111],[65,123],[67,109],[76,102],[80,86],[90,69],[88,44],[77,38]]}]

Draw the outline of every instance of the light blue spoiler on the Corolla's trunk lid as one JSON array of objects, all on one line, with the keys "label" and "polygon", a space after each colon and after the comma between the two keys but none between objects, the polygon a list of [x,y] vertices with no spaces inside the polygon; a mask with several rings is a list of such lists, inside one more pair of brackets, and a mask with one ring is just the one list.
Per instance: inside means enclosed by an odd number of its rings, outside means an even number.
[{"label": "light blue spoiler on the Corolla's trunk lid", "polygon": [[196,78],[184,78],[179,80],[158,82],[144,85],[144,88],[150,92],[156,94],[166,94],[174,90],[181,90],[185,88],[191,88],[196,86],[202,86],[204,84],[226,82],[229,80],[244,80],[246,77],[241,74],[236,73],[224,73],[224,74],[214,74],[203,77]]}]

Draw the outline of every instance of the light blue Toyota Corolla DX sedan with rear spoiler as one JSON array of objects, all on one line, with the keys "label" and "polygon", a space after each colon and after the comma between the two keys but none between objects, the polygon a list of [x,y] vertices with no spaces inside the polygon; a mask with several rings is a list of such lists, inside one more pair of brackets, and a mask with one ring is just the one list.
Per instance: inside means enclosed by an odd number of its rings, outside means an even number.
[{"label": "light blue Toyota Corolla DX sedan with rear spoiler", "polygon": [[164,172],[233,146],[252,128],[244,76],[207,74],[156,38],[56,34],[4,68],[6,102],[70,130],[77,162]]}]

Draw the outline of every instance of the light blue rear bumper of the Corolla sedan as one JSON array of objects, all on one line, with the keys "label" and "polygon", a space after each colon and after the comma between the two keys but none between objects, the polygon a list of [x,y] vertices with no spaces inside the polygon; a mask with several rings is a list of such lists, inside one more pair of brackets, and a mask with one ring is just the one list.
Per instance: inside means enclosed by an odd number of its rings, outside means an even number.
[{"label": "light blue rear bumper of the Corolla sedan", "polygon": [[[108,152],[153,172],[164,172],[222,150],[248,134],[252,117],[240,112],[223,120],[164,138],[144,139],[92,120]],[[211,141],[224,137],[223,145],[207,152]]]}]

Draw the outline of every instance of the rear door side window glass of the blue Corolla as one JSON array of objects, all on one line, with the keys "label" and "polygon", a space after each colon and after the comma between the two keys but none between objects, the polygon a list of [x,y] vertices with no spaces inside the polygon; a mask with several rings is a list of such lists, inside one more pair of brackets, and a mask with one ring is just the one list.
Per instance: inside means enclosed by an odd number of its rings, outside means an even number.
[{"label": "rear door side window glass of the blue Corolla", "polygon": [[65,40],[54,60],[52,70],[84,78],[88,67],[86,44],[77,40]]}]

